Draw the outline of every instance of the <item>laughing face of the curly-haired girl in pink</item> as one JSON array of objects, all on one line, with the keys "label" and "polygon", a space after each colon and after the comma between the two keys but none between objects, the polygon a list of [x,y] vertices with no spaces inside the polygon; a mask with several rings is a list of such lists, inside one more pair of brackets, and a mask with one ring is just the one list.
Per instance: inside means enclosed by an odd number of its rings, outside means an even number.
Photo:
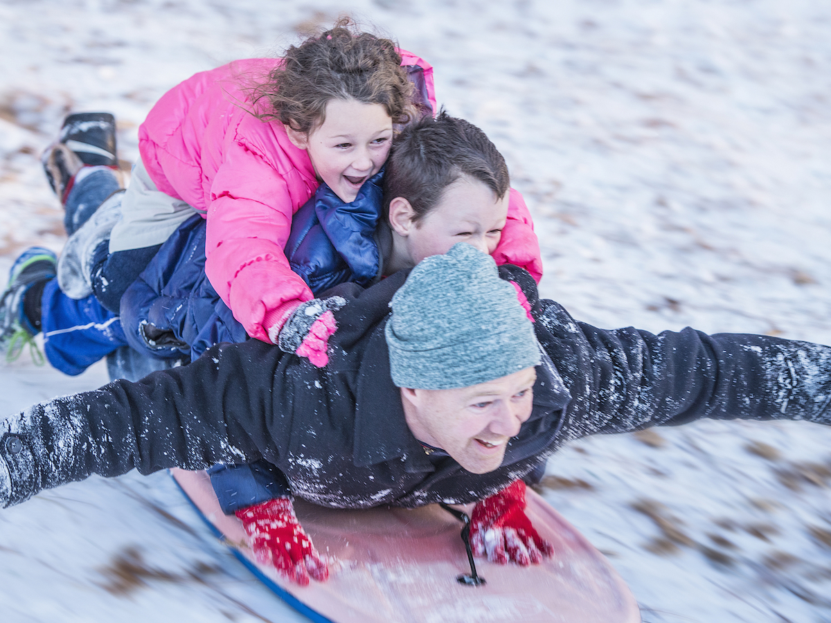
[{"label": "laughing face of the curly-haired girl in pink", "polygon": [[380,104],[332,100],[326,119],[308,135],[286,126],[289,140],[306,150],[317,178],[347,204],[386,162],[392,144],[392,119]]}]

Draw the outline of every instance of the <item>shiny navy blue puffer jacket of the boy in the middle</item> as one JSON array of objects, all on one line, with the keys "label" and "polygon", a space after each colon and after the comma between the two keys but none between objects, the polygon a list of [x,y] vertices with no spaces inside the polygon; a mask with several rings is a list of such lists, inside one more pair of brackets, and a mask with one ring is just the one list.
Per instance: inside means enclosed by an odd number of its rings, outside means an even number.
[{"label": "shiny navy blue puffer jacket of the boy in the middle", "polygon": [[[294,214],[285,248],[289,265],[317,296],[338,283],[368,286],[381,272],[375,232],[383,171],[351,204],[326,184]],[[121,326],[135,350],[161,359],[191,359],[223,341],[248,339],[204,273],[205,222],[194,215],[121,297]]]}]

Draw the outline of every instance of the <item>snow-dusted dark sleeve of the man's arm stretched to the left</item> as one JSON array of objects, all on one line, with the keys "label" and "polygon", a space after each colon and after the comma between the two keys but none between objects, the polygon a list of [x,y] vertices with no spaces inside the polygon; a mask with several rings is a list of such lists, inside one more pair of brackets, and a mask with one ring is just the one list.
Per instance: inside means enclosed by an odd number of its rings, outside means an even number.
[{"label": "snow-dusted dark sleeve of the man's arm stretched to the left", "polygon": [[262,342],[215,346],[137,383],[116,381],[12,415],[0,421],[0,507],[93,473],[274,463],[283,446],[273,439],[289,437],[282,426],[290,418],[269,417],[288,412],[275,405],[287,395],[284,365],[283,353]]}]

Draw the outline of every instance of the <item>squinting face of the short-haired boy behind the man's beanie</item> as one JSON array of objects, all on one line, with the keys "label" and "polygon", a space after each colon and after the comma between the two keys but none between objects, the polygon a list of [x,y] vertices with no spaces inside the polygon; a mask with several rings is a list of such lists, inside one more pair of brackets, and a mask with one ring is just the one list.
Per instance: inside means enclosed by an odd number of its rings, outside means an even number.
[{"label": "squinting face of the short-haired boy behind the man's beanie", "polygon": [[[413,222],[412,208],[405,199],[390,204],[391,227],[404,238],[415,266],[431,255],[447,253],[455,243],[469,243],[484,253],[494,253],[508,218],[509,193],[497,199],[494,191],[466,175],[441,194],[439,203],[420,221]],[[396,213],[397,205],[406,205]],[[409,213],[409,216],[407,214]]]}]

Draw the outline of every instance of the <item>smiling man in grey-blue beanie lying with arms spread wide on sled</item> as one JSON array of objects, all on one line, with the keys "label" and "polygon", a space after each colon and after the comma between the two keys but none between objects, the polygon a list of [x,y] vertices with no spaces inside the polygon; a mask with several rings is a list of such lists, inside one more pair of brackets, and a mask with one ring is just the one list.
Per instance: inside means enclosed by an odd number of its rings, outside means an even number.
[{"label": "smiling man in grey-blue beanie lying with arms spread wide on sled", "polygon": [[[704,417],[831,421],[829,346],[600,330],[466,244],[358,290],[341,292],[325,369],[248,341],[4,420],[0,503],[91,473],[254,462],[323,506],[476,502],[475,552],[528,564],[551,548],[520,478],[570,439]],[[284,493],[238,517],[263,560],[323,580]]]}]

